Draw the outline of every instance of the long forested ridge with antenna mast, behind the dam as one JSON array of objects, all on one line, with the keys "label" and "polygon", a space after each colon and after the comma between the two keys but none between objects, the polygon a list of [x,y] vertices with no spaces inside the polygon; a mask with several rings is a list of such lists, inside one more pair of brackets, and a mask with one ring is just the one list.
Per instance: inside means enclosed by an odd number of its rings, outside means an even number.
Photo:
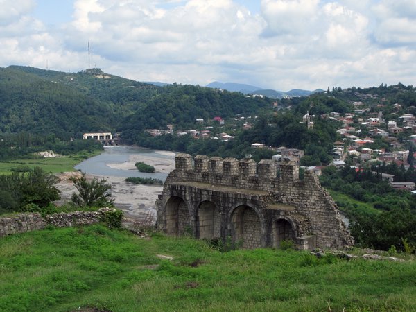
[{"label": "long forested ridge with antenna mast, behind the dam", "polygon": [[10,66],[0,69],[0,131],[55,134],[185,126],[196,118],[255,114],[271,100],[191,85],[157,87],[87,69],[64,73]]}]

